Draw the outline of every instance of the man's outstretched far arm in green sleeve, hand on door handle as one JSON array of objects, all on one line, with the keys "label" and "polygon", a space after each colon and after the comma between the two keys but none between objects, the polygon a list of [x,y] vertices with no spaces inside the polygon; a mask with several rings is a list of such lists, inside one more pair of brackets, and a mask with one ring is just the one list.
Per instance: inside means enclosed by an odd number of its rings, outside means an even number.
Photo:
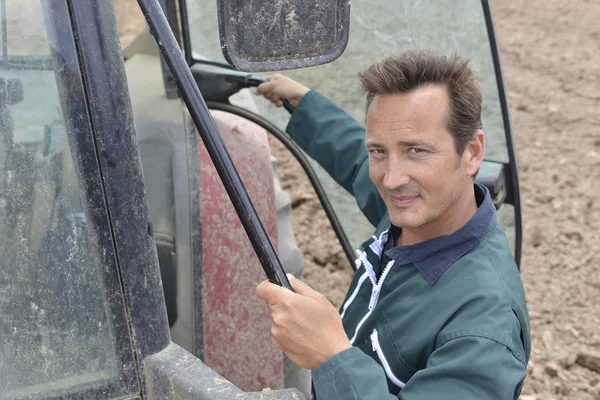
[{"label": "man's outstretched far arm in green sleeve, hand on door handle", "polygon": [[296,107],[287,133],[344,189],[352,194],[367,219],[377,225],[385,204],[369,177],[365,128],[315,90],[281,75],[257,89],[276,106],[287,98]]}]

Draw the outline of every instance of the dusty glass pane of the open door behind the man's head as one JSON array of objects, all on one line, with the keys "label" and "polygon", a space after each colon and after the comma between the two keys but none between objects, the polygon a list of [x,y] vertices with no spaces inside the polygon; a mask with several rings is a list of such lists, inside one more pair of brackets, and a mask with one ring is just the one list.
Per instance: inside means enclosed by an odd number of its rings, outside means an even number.
[{"label": "dusty glass pane of the open door behind the man's head", "polygon": [[[216,2],[186,0],[192,48],[197,58],[223,61],[219,48]],[[357,72],[393,53],[428,49],[438,54],[471,59],[481,79],[486,159],[508,162],[502,112],[485,16],[481,0],[361,0],[352,2],[350,40],[333,63],[285,71],[284,74],[319,90],[358,121],[364,122],[365,96]],[[256,100],[260,113],[285,128],[289,115]],[[315,169],[354,246],[368,238],[373,227],[362,217],[353,198],[315,163]],[[512,218],[514,220],[514,218]],[[506,223],[511,223],[506,218]]]}]

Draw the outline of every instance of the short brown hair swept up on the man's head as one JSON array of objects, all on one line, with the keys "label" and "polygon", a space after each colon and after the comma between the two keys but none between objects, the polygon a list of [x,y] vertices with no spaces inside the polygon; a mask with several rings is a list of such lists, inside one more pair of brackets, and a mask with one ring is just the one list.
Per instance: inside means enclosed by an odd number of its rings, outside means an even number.
[{"label": "short brown hair swept up on the man's head", "polygon": [[447,127],[462,154],[481,129],[481,91],[469,60],[430,51],[407,51],[387,57],[358,74],[367,93],[367,110],[377,95],[409,93],[428,84],[443,85],[450,98]]}]

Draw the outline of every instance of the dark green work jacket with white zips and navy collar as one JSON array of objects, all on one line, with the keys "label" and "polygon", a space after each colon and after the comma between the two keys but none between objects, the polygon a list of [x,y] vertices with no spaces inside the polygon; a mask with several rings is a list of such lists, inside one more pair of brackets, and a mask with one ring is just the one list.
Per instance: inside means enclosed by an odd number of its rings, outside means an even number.
[{"label": "dark green work jacket with white zips and navy collar", "polygon": [[531,350],[523,284],[487,189],[459,231],[394,247],[365,128],[318,92],[288,134],[377,226],[340,310],[353,347],[312,371],[318,400],[517,399]]}]

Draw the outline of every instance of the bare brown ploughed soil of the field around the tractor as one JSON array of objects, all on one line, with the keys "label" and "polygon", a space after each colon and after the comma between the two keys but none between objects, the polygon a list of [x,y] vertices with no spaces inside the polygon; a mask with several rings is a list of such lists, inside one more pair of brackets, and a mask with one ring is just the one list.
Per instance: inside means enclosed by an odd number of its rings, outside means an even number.
[{"label": "bare brown ploughed soil of the field around the tractor", "polygon": [[[115,0],[123,42],[140,28]],[[600,2],[497,0],[521,174],[533,350],[522,399],[600,399]],[[351,270],[297,163],[273,143],[305,279],[335,304]]]}]

